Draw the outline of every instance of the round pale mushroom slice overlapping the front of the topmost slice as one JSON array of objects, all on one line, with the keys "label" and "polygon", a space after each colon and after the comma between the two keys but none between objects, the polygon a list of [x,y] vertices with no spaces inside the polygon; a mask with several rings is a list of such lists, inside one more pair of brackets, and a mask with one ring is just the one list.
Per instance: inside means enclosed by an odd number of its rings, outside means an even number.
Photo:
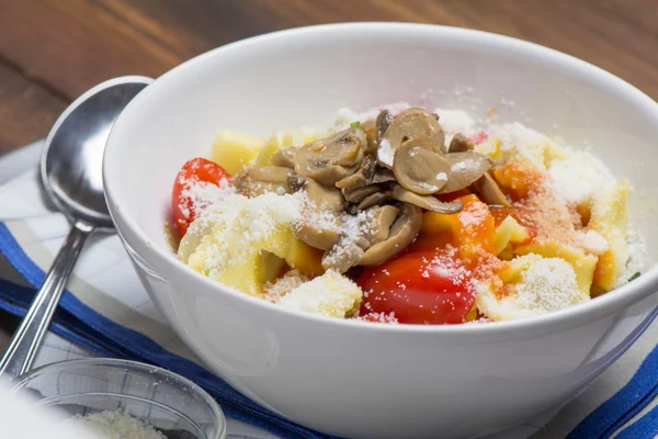
[{"label": "round pale mushroom slice overlapping the front of the topmost slice", "polygon": [[398,183],[420,195],[439,192],[450,178],[451,165],[426,139],[411,139],[395,151],[393,172]]}]

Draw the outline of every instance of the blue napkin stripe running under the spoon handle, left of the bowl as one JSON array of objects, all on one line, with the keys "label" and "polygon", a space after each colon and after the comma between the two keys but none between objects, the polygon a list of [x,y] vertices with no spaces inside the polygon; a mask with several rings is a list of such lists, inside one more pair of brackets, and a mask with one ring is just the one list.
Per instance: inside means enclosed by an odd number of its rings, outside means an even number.
[{"label": "blue napkin stripe running under the spoon handle, left of the bowl", "polygon": [[[0,223],[0,251],[30,284],[35,288],[41,286],[45,273],[25,255],[4,223]],[[4,290],[3,301],[11,296],[12,303],[21,304],[20,306],[4,304],[7,311],[16,314],[19,308],[26,307],[34,296],[33,290],[9,282],[1,283],[0,289]],[[226,416],[281,438],[337,439],[334,436],[302,427],[259,406],[196,363],[164,350],[143,334],[107,319],[84,305],[69,291],[64,292],[60,308],[68,313],[68,316],[63,313],[57,314],[58,325],[55,330],[64,338],[76,344],[80,342],[83,347],[104,356],[147,362],[179,373],[213,395]]]}]

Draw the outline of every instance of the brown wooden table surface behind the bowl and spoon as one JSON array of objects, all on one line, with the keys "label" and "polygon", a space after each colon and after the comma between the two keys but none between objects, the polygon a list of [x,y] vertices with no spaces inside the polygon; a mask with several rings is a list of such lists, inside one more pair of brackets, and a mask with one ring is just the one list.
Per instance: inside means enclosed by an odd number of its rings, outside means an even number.
[{"label": "brown wooden table surface behind the bowl and spoon", "polygon": [[[0,0],[0,154],[44,136],[70,101],[105,79],[157,77],[239,38],[342,21],[515,36],[658,99],[658,0]],[[5,333],[15,322],[0,314]],[[0,336],[0,351],[2,344]]]}]

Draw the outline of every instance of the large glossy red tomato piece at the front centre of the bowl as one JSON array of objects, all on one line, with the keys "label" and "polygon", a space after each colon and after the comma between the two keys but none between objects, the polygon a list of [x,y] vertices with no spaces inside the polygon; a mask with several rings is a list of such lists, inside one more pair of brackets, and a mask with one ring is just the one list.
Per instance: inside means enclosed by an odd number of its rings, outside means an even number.
[{"label": "large glossy red tomato piece at the front centre of the bowl", "polygon": [[361,274],[361,315],[394,315],[402,324],[464,323],[475,303],[469,280],[449,255],[407,252]]}]

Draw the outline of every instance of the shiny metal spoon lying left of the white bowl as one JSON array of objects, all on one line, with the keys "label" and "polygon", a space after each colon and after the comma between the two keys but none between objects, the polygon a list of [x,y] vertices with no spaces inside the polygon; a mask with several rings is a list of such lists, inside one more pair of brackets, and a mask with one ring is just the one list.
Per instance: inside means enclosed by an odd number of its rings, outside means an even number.
[{"label": "shiny metal spoon lying left of the white bowl", "polygon": [[42,182],[72,228],[0,361],[0,374],[30,370],[84,241],[95,232],[114,232],[103,193],[103,150],[118,114],[151,82],[139,76],[102,82],[76,99],[48,133]]}]

